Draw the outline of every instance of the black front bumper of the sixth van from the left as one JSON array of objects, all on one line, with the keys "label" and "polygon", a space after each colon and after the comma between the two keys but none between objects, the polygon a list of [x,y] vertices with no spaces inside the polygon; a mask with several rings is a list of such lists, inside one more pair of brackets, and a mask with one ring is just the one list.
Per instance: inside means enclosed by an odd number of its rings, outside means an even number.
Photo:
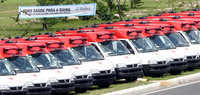
[{"label": "black front bumper of the sixth van from the left", "polygon": [[123,67],[123,68],[115,68],[116,78],[117,79],[125,79],[125,78],[137,78],[142,74],[142,66],[139,67]]}]

